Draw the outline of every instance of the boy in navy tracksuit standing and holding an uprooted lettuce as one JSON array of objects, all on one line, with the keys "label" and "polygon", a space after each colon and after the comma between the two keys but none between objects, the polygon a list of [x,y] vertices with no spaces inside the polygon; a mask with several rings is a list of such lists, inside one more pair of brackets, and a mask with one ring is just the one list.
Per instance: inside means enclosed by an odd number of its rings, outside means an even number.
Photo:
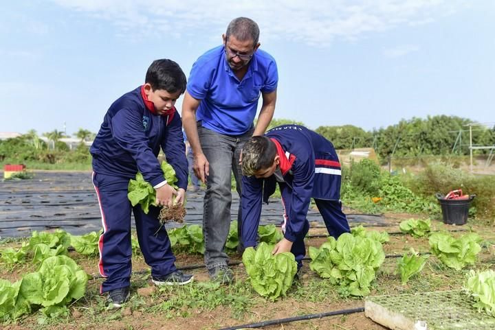
[{"label": "boy in navy tracksuit standing and holding an uprooted lettuce", "polygon": [[[175,268],[175,256],[159,207],[144,214],[127,198],[129,180],[141,172],[156,191],[159,206],[184,203],[188,164],[182,139],[182,122],[174,104],[186,90],[186,75],[172,60],[155,60],[145,84],[122,95],[110,106],[93,145],[93,183],[100,203],[100,274],[106,278],[100,292],[120,307],[129,297],[131,278],[131,210],[144,260],[151,266],[156,285],[186,284],[192,275]],[[175,169],[177,191],[164,179],[157,155],[160,147]],[[175,196],[175,200],[173,200]]]}]

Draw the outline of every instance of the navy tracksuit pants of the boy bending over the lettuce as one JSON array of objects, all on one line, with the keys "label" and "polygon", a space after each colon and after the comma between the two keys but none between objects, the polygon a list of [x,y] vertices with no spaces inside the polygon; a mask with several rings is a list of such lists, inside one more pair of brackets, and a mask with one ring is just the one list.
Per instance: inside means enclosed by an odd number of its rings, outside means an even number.
[{"label": "navy tracksuit pants of the boy bending over the lettuce", "polygon": [[[284,209],[288,210],[291,208],[292,200],[292,189],[290,189],[287,184],[281,183],[280,185],[282,201]],[[349,233],[351,229],[349,228],[349,222],[347,222],[347,217],[342,212],[342,203],[340,200],[320,200],[314,199],[316,202],[316,207],[323,217],[325,226],[327,226],[327,231],[330,236],[338,238],[343,233]],[[285,212],[287,213],[287,212]],[[284,214],[284,219],[287,219],[286,214]],[[290,221],[290,220],[287,220]],[[303,231],[299,233],[296,237],[296,241],[292,244],[291,252],[296,257],[296,262],[298,263],[298,270],[303,266],[303,258],[306,255],[306,246],[304,243],[305,236],[309,231],[309,222],[305,219],[303,225]]]}]

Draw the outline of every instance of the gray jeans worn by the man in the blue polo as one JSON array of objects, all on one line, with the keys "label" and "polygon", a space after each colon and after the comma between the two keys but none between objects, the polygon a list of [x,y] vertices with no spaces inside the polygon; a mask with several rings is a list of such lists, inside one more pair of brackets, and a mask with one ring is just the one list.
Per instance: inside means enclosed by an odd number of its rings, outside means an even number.
[{"label": "gray jeans worn by the man in the blue polo", "polygon": [[[203,235],[205,239],[206,268],[225,265],[228,256],[224,252],[230,229],[230,204],[232,204],[232,172],[236,190],[241,198],[241,166],[239,157],[243,145],[254,129],[242,135],[223,135],[201,126],[198,127],[199,141],[203,153],[210,163],[210,175],[203,205]],[[241,237],[241,203],[237,211],[239,237]],[[241,241],[239,244],[242,245]]]}]

